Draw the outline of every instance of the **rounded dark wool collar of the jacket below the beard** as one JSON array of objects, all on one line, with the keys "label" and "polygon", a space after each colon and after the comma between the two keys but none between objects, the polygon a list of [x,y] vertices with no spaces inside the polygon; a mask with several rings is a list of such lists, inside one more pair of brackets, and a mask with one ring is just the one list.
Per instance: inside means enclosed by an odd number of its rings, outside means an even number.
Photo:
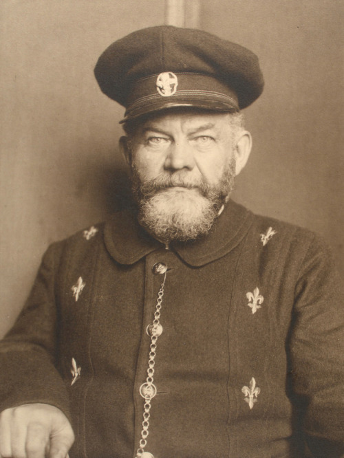
[{"label": "rounded dark wool collar of the jacket below the beard", "polygon": [[[252,219],[252,212],[230,200],[206,237],[173,243],[170,248],[189,265],[205,265],[233,250],[248,232]],[[164,247],[141,228],[130,210],[116,213],[105,223],[104,237],[107,250],[120,264],[136,263]]]}]

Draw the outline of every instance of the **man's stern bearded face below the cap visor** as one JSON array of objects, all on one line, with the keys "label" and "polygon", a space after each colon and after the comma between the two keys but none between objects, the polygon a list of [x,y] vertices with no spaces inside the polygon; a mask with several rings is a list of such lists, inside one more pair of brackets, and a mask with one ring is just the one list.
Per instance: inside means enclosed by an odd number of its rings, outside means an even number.
[{"label": "man's stern bearded face below the cap visor", "polygon": [[139,124],[127,157],[139,221],[162,241],[205,235],[228,199],[238,129],[228,113],[160,113]]}]

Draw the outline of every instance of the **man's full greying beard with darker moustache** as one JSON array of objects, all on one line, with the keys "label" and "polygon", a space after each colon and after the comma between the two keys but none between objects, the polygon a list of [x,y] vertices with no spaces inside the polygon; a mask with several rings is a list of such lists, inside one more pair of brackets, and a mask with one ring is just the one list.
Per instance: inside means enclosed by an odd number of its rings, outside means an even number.
[{"label": "man's full greying beard with darker moustache", "polygon": [[133,168],[133,193],[138,202],[138,221],[155,239],[188,241],[208,234],[233,189],[233,160],[217,186],[190,182],[175,172],[141,182]]}]

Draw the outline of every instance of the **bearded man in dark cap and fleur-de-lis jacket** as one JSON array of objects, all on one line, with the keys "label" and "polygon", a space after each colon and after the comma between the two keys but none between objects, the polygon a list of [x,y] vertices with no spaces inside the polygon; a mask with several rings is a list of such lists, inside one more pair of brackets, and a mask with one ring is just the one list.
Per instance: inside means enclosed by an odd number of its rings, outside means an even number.
[{"label": "bearded man in dark cap and fleur-de-lis jacket", "polygon": [[95,74],[126,107],[135,204],[47,250],[1,344],[0,456],[343,456],[330,254],[230,200],[256,56],[161,26]]}]

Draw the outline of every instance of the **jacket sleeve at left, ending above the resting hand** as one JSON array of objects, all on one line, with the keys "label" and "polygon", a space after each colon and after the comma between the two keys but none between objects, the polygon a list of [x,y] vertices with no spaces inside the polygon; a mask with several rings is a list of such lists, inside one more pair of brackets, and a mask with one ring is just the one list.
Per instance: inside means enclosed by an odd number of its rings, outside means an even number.
[{"label": "jacket sleeve at left, ending above the resting hand", "polygon": [[42,402],[70,417],[67,389],[56,369],[58,312],[54,284],[60,257],[60,243],[47,250],[25,307],[0,342],[0,411]]}]

